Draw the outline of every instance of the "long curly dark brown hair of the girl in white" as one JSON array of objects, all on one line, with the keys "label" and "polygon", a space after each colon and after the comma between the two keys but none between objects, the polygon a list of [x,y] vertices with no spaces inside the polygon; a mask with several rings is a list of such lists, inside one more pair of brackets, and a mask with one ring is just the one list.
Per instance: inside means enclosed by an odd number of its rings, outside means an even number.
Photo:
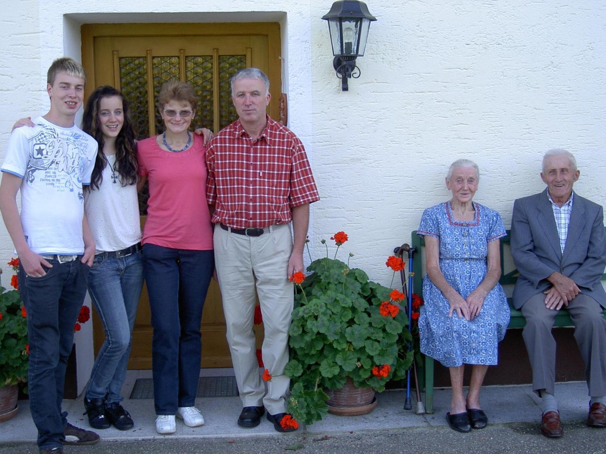
[{"label": "long curly dark brown hair of the girl in white", "polygon": [[99,124],[99,102],[104,97],[118,96],[122,100],[122,111],[124,112],[124,124],[116,137],[116,163],[114,170],[118,172],[122,186],[134,185],[137,182],[137,156],[136,156],[136,133],[133,122],[130,119],[130,107],[128,100],[110,85],[96,88],[88,97],[82,118],[82,130],[95,137],[99,143],[99,151],[95,159],[95,168],[90,180],[88,190],[99,189],[103,180],[103,169],[108,164],[103,154],[103,133]]}]

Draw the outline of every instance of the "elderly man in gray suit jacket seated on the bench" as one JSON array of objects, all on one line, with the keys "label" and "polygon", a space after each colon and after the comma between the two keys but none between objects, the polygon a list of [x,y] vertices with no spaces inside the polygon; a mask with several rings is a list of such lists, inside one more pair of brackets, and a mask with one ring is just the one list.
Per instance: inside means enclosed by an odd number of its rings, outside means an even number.
[{"label": "elderly man in gray suit jacket seated on the bench", "polygon": [[588,426],[606,427],[606,265],[602,206],[573,192],[579,179],[574,156],[550,150],[541,173],[547,189],[518,199],[511,220],[511,255],[520,272],[513,305],[526,318],[524,342],[533,369],[533,390],[541,396],[541,432],[562,436],[553,396],[556,342],[551,335],[559,309],[574,324],[591,396]]}]

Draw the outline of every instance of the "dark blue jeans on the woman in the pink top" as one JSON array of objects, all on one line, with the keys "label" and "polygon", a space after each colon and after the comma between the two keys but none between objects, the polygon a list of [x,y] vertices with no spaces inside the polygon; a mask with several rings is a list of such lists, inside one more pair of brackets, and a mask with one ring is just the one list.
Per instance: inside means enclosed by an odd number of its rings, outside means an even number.
[{"label": "dark blue jeans on the woman in the pink top", "polygon": [[202,308],[215,268],[213,251],[143,246],[150,298],[151,369],[156,415],[175,415],[196,400]]}]

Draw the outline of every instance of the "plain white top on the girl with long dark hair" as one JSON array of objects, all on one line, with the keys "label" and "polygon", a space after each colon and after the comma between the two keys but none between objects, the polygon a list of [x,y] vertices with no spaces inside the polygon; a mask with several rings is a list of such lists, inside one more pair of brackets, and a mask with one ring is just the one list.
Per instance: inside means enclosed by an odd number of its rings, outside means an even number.
[{"label": "plain white top on the girl with long dark hair", "polygon": [[99,189],[84,192],[84,211],[97,252],[119,251],[141,241],[137,185],[122,186],[114,170],[116,155],[107,155]]}]

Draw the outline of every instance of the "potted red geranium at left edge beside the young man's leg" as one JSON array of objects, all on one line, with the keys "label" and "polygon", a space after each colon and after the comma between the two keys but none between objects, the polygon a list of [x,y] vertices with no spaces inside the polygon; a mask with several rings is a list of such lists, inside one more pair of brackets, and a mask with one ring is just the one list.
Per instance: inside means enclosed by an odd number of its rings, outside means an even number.
[{"label": "potted red geranium at left edge beside the young man's leg", "polygon": [[[13,258],[8,265],[17,271],[19,259]],[[18,384],[27,381],[30,353],[27,312],[16,290],[19,287],[16,274],[10,285],[14,289],[7,291],[0,283],[0,421],[6,421],[17,413]]]}]

